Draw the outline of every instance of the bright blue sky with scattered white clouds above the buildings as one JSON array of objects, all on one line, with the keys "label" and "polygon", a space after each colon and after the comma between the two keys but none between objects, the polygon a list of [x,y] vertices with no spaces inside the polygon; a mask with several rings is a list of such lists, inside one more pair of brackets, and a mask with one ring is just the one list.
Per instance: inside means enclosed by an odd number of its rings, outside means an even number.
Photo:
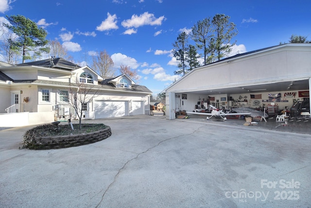
[{"label": "bright blue sky with scattered white clouds above the buildings", "polygon": [[310,0],[0,0],[0,22],[6,15],[33,20],[80,66],[106,50],[116,67],[136,69],[138,84],[154,94],[179,78],[171,54],[178,34],[215,14],[229,16],[239,31],[232,55],[288,42],[292,34],[311,40]]}]

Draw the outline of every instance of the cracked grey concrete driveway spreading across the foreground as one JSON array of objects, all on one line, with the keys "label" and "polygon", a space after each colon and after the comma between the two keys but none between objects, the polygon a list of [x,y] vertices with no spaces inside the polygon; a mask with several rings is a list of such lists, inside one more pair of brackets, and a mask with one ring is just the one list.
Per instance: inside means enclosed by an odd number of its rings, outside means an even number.
[{"label": "cracked grey concrete driveway spreading across the foreground", "polygon": [[0,131],[0,207],[310,207],[311,135],[163,115],[90,120],[94,144],[19,150]]}]

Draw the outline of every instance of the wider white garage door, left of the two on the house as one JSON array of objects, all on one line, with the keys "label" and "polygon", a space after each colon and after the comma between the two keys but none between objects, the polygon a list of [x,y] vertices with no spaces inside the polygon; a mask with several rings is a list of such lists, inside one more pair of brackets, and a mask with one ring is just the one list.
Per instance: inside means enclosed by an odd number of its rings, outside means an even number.
[{"label": "wider white garage door, left of the two on the house", "polygon": [[111,118],[127,115],[127,101],[102,101],[97,100],[94,106],[95,118]]}]

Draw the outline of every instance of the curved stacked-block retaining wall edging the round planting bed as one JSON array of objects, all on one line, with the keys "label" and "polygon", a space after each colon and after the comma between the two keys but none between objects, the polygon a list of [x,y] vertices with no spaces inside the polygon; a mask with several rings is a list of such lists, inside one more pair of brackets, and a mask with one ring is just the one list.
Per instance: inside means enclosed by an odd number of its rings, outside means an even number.
[{"label": "curved stacked-block retaining wall edging the round planting bed", "polygon": [[29,146],[29,150],[51,150],[69,147],[77,147],[102,141],[111,136],[111,129],[106,126],[106,129],[101,129],[96,132],[86,134],[73,134],[64,136],[47,136],[35,138],[34,144]]}]

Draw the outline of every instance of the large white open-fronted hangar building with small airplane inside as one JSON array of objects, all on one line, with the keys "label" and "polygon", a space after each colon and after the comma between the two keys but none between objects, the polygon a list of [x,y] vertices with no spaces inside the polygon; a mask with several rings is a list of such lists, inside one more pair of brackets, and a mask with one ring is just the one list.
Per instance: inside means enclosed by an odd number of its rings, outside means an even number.
[{"label": "large white open-fronted hangar building with small airplane inside", "polygon": [[274,115],[309,97],[311,44],[283,44],[196,68],[166,90],[166,116],[178,111],[253,107]]}]

